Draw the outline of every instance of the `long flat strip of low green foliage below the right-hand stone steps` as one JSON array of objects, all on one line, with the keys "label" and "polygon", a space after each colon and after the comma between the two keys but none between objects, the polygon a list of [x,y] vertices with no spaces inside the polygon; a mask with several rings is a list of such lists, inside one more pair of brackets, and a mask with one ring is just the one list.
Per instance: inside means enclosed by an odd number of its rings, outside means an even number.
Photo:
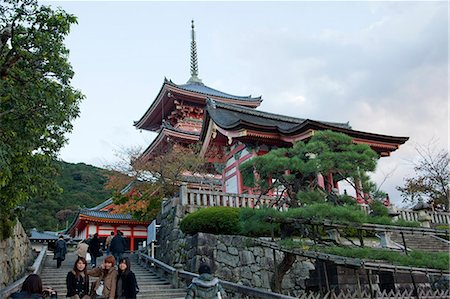
[{"label": "long flat strip of low green foliage below the right-hand stone steps", "polygon": [[446,252],[412,251],[405,255],[386,249],[336,246],[320,247],[316,248],[316,250],[360,259],[384,260],[400,266],[448,270],[449,265],[449,254]]}]

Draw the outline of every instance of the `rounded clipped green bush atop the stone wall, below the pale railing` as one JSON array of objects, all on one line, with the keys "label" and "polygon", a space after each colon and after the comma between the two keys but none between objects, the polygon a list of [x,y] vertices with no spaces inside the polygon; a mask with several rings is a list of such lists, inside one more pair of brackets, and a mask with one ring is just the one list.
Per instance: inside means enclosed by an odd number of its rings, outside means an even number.
[{"label": "rounded clipped green bush atop the stone wall, below the pale railing", "polygon": [[237,235],[240,231],[239,209],[227,207],[203,208],[183,218],[180,229],[185,234],[198,232]]}]

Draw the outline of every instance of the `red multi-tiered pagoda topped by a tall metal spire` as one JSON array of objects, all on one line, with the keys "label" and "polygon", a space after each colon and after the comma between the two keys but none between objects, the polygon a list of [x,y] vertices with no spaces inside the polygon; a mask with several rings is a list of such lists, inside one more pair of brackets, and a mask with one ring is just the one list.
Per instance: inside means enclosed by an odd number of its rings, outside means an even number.
[{"label": "red multi-tiered pagoda topped by a tall metal spire", "polygon": [[167,143],[197,143],[208,98],[248,108],[256,108],[262,102],[261,97],[231,95],[202,82],[198,77],[194,21],[191,27],[191,77],[186,84],[175,84],[165,78],[153,103],[141,119],[134,123],[137,129],[158,132],[144,151],[144,158],[164,152]]}]

